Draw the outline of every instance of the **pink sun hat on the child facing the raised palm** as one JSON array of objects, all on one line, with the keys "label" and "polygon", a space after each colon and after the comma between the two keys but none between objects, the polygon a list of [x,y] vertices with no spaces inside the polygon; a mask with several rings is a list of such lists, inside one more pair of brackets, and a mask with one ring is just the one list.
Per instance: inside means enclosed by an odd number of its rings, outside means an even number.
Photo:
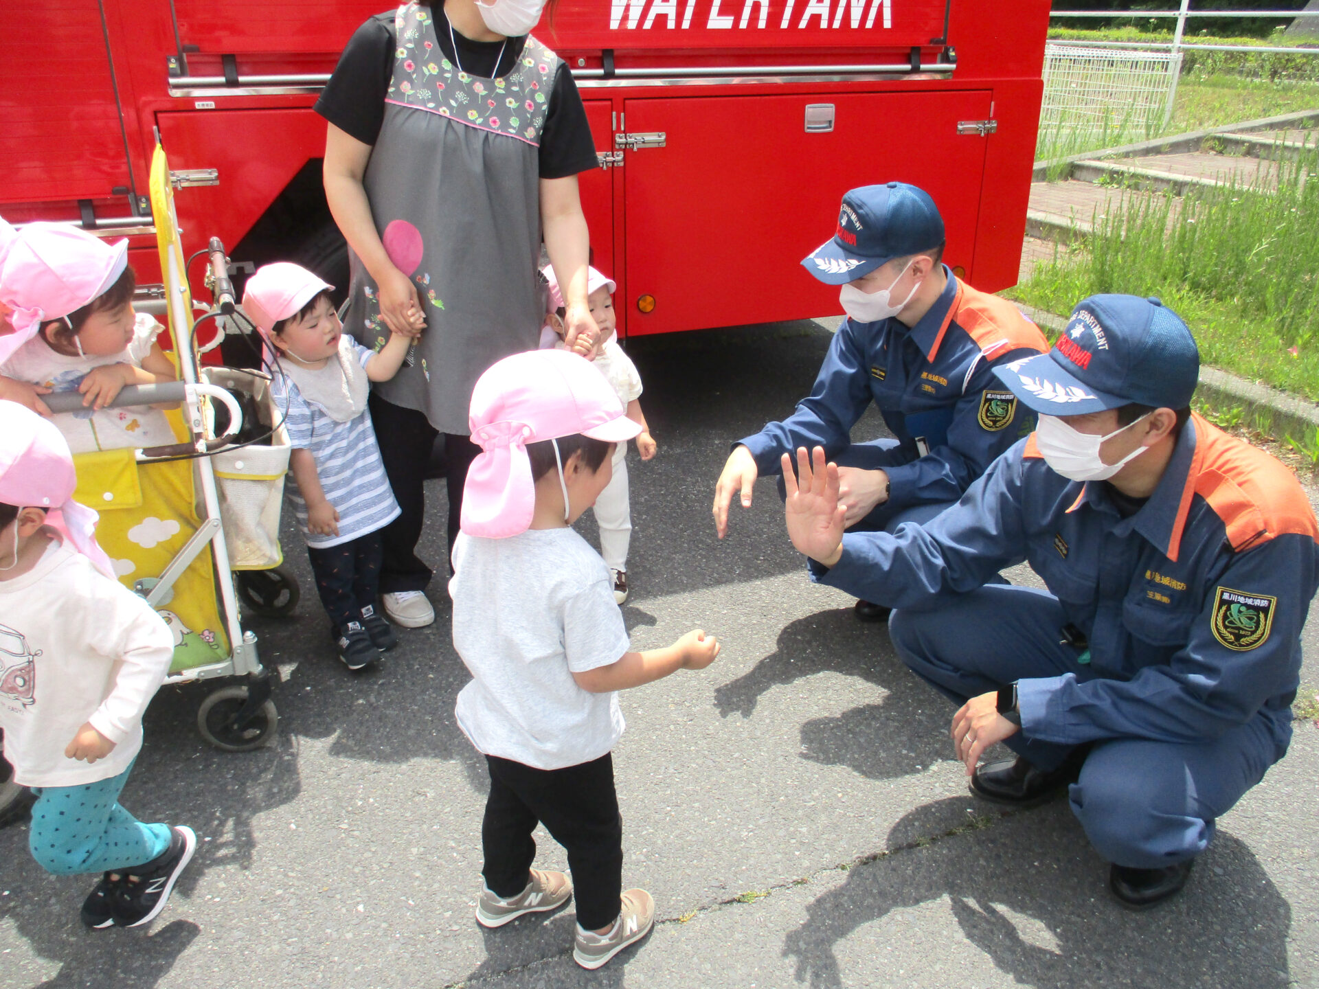
[{"label": "pink sun hat on the child facing the raised palm", "polygon": [[[528,443],[576,433],[623,443],[641,433],[595,364],[568,351],[528,351],[493,364],[472,389],[468,426],[481,452],[467,469],[460,525],[468,535],[489,539],[532,525],[536,483]],[[566,485],[563,500],[566,505]]]}]

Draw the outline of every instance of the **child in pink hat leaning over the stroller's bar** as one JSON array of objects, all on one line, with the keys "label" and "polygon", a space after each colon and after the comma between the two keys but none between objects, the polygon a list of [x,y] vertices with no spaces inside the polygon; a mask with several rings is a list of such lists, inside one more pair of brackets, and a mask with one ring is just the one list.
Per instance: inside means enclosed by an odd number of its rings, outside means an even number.
[{"label": "child in pink hat leaning over the stroller's bar", "polygon": [[161,326],[133,311],[128,241],[106,244],[61,223],[0,231],[0,398],[49,414],[41,396],[80,392],[86,409],[54,417],[75,454],[174,442],[153,407],[106,409],[125,385],[175,378]]}]

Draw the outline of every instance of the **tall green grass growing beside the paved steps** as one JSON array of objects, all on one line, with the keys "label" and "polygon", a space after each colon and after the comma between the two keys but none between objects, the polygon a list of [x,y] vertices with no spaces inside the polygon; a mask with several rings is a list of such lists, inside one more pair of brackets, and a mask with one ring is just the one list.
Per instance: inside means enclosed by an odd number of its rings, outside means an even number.
[{"label": "tall green grass growing beside the paved steps", "polygon": [[1060,314],[1095,293],[1158,295],[1203,363],[1319,400],[1316,177],[1319,153],[1307,153],[1281,166],[1275,193],[1196,190],[1175,219],[1171,196],[1124,195],[1086,244],[1059,248],[1014,295]]}]

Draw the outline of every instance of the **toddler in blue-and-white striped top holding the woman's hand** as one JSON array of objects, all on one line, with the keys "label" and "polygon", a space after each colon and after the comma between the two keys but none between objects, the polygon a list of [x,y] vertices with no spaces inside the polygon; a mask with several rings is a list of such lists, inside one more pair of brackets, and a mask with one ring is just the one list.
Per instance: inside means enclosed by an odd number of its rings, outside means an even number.
[{"label": "toddler in blue-and-white striped top holding the woman's hand", "polygon": [[376,614],[381,530],[400,509],[367,396],[398,372],[412,339],[393,334],[379,353],[361,347],[343,332],[332,287],[278,261],[248,280],[243,309],[278,356],[270,393],[293,444],[289,500],[339,659],[360,670],[398,642]]}]

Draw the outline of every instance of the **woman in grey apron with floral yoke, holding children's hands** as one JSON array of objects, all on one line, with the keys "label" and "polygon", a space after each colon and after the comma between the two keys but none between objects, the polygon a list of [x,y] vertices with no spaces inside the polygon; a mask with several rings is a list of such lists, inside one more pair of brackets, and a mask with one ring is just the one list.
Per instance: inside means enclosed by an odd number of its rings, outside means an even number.
[{"label": "woman in grey apron with floral yoke, holding children's hands", "polygon": [[595,335],[580,171],[598,166],[567,66],[528,32],[543,0],[408,3],[352,36],[315,109],[328,121],[324,187],[350,247],[346,331],[377,345],[421,332],[393,381],[372,389],[380,454],[402,513],[384,530],[385,613],[435,620],[417,556],[422,480],[445,434],[448,542],[480,448],[468,438],[472,385],[534,349],[543,233],[567,286],[570,339]]}]

